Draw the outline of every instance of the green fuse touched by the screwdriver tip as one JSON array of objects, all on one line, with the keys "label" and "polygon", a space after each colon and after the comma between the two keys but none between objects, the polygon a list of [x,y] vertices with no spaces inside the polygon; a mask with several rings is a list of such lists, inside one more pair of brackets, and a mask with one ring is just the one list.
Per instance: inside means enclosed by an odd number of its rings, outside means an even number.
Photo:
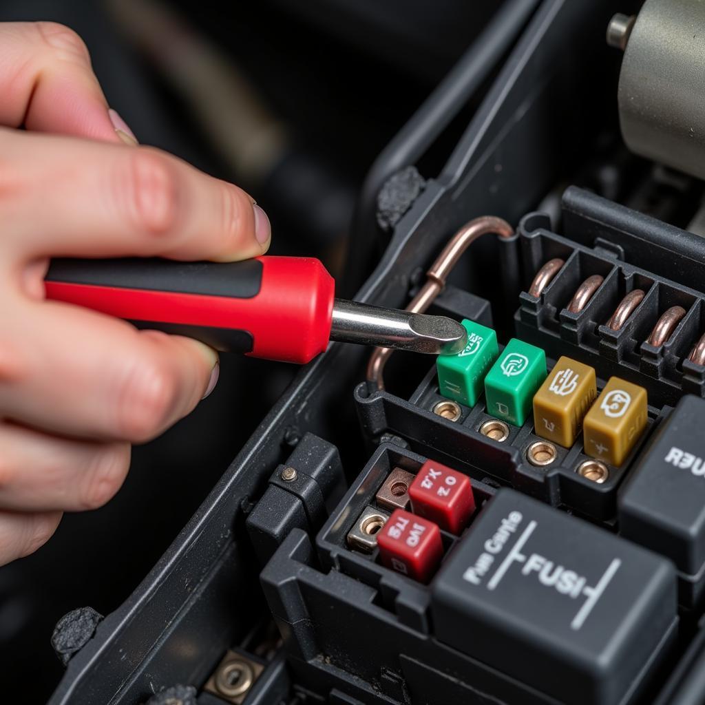
[{"label": "green fuse touched by the screwdriver tip", "polygon": [[482,379],[497,359],[497,334],[473,321],[460,321],[467,331],[467,345],[457,355],[439,355],[439,391],[444,397],[474,406],[482,394]]}]

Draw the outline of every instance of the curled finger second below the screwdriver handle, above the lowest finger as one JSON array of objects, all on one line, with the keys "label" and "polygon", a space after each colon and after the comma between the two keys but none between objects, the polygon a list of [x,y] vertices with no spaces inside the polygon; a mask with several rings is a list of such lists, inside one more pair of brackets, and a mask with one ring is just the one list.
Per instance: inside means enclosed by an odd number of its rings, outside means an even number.
[{"label": "curled finger second below the screwdriver handle, above the lowest finger", "polygon": [[130,443],[75,441],[0,422],[0,507],[82,511],[102,507],[122,486]]}]

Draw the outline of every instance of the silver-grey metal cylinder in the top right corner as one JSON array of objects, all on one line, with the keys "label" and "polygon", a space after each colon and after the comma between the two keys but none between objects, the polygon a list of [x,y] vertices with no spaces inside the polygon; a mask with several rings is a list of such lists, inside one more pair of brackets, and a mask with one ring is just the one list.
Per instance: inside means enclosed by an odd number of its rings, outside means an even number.
[{"label": "silver-grey metal cylinder in the top right corner", "polygon": [[705,178],[705,2],[646,0],[618,91],[627,147]]}]

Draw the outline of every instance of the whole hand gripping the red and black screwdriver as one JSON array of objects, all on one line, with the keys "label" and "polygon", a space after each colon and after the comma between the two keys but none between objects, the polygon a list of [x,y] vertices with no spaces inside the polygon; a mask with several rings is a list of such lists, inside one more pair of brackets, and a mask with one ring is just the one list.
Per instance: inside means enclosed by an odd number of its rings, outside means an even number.
[{"label": "whole hand gripping the red and black screwdriver", "polygon": [[243,190],[133,145],[78,35],[0,24],[0,564],[44,544],[63,511],[108,501],[130,443],[187,415],[218,374],[202,343],[45,300],[49,258],[269,247]]}]

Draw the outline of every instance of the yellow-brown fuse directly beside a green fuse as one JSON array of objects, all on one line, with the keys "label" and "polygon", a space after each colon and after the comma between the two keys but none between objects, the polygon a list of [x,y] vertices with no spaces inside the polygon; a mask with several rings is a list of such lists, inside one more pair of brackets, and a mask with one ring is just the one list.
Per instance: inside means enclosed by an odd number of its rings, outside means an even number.
[{"label": "yellow-brown fuse directly beside a green fuse", "polygon": [[595,371],[561,357],[534,396],[534,427],[541,438],[570,448],[597,396]]}]

